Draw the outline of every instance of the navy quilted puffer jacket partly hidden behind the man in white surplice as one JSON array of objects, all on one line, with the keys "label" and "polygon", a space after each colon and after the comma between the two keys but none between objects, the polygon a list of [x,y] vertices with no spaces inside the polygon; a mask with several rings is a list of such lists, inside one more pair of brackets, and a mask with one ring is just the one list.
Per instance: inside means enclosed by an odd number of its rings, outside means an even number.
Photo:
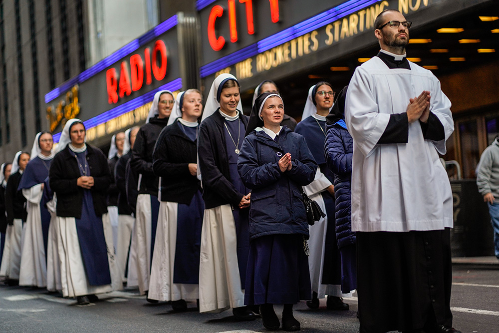
[{"label": "navy quilted puffer jacket partly hidden behind the man in white surplice", "polygon": [[352,232],[352,154],[353,140],[350,133],[338,124],[328,125],[324,157],[334,173],[336,241],[339,249],[355,244],[355,233]]}]

